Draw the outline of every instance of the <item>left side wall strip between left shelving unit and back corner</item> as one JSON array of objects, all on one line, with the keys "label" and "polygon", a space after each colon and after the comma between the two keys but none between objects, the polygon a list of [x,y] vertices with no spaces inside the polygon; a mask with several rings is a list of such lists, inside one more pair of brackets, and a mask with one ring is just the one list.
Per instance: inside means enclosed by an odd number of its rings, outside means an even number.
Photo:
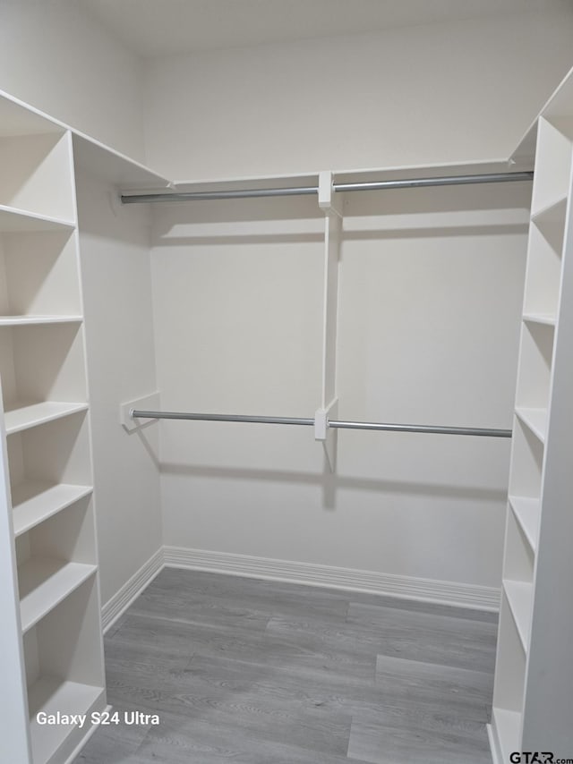
[{"label": "left side wall strip between left shelving unit and back corner", "polygon": [[118,421],[120,403],[156,389],[149,218],[112,207],[113,191],[86,174],[77,183],[105,603],[162,543],[157,428],[127,435]]}]

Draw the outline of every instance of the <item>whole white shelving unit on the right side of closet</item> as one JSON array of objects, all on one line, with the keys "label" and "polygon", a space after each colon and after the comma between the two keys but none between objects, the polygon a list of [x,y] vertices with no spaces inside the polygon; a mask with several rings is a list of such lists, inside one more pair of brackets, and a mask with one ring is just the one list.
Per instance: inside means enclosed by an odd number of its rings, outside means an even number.
[{"label": "whole white shelving unit on the right side of closet", "polygon": [[490,736],[512,751],[573,755],[573,81],[543,109],[535,145],[509,509]]}]

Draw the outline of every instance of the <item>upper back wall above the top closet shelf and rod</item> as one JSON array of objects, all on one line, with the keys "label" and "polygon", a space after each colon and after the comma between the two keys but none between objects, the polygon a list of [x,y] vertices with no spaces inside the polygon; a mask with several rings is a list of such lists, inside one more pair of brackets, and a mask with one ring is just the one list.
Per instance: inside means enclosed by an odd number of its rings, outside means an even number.
[{"label": "upper back wall above the top closet shelf and rod", "polygon": [[508,157],[573,64],[573,6],[147,64],[175,179]]}]

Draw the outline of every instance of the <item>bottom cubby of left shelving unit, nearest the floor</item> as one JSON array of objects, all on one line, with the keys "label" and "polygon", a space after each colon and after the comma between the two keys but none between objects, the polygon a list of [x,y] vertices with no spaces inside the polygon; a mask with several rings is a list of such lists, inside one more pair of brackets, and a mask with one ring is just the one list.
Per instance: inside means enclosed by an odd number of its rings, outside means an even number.
[{"label": "bottom cubby of left shelving unit, nearest the floor", "polygon": [[33,764],[69,758],[89,730],[38,724],[38,712],[87,714],[106,707],[94,576],[24,635]]}]

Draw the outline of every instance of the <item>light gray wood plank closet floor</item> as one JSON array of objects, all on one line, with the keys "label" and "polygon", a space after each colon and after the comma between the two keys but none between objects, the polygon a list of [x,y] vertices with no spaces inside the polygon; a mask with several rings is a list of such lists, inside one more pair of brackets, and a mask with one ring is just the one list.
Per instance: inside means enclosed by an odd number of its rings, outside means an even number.
[{"label": "light gray wood plank closet floor", "polygon": [[74,764],[492,764],[496,633],[491,613],[167,568],[107,632],[122,723]]}]

